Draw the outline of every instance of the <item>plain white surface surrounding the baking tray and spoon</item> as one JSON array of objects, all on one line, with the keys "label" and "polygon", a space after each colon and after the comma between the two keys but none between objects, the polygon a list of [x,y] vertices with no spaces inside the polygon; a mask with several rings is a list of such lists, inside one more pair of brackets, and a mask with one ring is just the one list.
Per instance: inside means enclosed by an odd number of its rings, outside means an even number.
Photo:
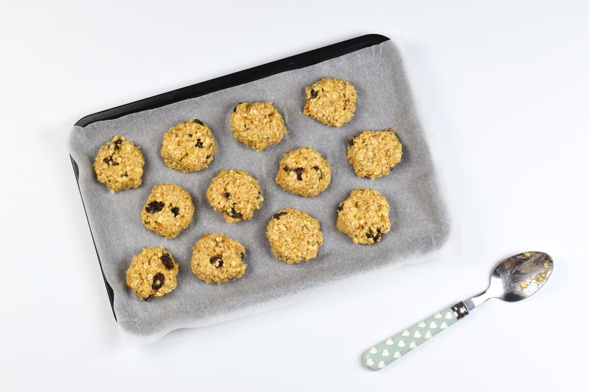
[{"label": "plain white surface surrounding the baking tray and spoon", "polygon": [[[585,383],[587,2],[6,2],[0,14],[2,390],[534,390]],[[463,254],[148,346],[121,343],[65,147],[82,116],[353,38],[402,38]],[[369,97],[365,97],[368,99]],[[550,281],[491,300],[382,371],[363,352],[540,250]],[[583,384],[581,384],[583,385]]]}]

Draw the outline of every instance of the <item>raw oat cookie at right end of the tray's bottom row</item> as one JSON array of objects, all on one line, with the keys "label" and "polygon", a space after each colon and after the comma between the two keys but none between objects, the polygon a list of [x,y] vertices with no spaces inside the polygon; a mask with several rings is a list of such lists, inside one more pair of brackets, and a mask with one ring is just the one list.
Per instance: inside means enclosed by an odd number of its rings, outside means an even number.
[{"label": "raw oat cookie at right end of the tray's bottom row", "polygon": [[352,190],[337,208],[337,229],[355,244],[379,242],[391,230],[389,203],[374,189]]}]

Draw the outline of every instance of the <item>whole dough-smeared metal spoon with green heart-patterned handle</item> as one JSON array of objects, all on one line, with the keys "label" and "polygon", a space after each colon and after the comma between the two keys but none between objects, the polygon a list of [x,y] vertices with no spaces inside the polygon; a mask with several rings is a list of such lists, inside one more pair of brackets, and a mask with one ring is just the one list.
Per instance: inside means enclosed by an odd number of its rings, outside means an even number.
[{"label": "whole dough-smeared metal spoon with green heart-patterned handle", "polygon": [[552,273],[552,257],[542,252],[524,252],[503,260],[491,274],[489,288],[464,302],[448,307],[401,333],[382,341],[364,354],[364,364],[372,370],[398,360],[458,320],[489,298],[508,302],[525,299],[544,286]]}]

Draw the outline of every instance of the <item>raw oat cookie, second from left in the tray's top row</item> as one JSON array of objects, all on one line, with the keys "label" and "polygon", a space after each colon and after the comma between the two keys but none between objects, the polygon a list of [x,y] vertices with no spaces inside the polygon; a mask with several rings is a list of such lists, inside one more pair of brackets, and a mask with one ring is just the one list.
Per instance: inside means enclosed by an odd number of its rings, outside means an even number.
[{"label": "raw oat cookie, second from left in the tray's top row", "polygon": [[216,150],[209,127],[201,120],[191,119],[164,133],[160,153],[166,165],[188,173],[207,167]]}]

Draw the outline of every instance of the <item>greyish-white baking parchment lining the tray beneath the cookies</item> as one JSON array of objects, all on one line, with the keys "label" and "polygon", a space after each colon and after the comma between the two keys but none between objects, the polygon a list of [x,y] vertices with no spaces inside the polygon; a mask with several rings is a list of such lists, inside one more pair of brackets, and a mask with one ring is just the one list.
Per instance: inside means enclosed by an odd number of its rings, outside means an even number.
[{"label": "greyish-white baking parchment lining the tray beneath the cookies", "polygon": [[[306,68],[71,129],[70,153],[80,170],[82,199],[102,269],[114,290],[114,311],[125,343],[147,344],[174,329],[274,309],[441,252],[456,255],[459,230],[413,102],[400,47],[386,41]],[[346,79],[358,92],[355,117],[340,128],[302,114],[305,87],[326,77]],[[266,100],[282,113],[288,133],[277,145],[256,152],[233,138],[229,116],[239,102]],[[164,164],[161,143],[171,126],[191,118],[209,126],[218,150],[207,169],[181,173]],[[388,176],[358,178],[346,160],[347,140],[365,129],[387,127],[394,128],[402,142],[401,163]],[[115,135],[140,146],[145,166],[140,187],[111,194],[97,181],[92,164],[100,147]],[[274,181],[283,154],[301,146],[322,153],[332,168],[331,184],[316,197],[292,195]],[[259,181],[264,202],[252,220],[225,223],[207,202],[207,187],[221,169],[246,170]],[[196,208],[191,225],[175,239],[145,229],[140,217],[151,188],[168,182],[186,189]],[[336,228],[336,208],[356,188],[376,189],[391,205],[391,232],[379,243],[354,244]],[[274,257],[266,225],[289,206],[319,219],[323,246],[316,259],[287,264]],[[247,269],[240,279],[206,284],[191,272],[192,247],[211,232],[227,234],[246,247]],[[176,290],[144,302],[125,284],[125,272],[134,254],[148,246],[166,247],[180,271]]]}]

